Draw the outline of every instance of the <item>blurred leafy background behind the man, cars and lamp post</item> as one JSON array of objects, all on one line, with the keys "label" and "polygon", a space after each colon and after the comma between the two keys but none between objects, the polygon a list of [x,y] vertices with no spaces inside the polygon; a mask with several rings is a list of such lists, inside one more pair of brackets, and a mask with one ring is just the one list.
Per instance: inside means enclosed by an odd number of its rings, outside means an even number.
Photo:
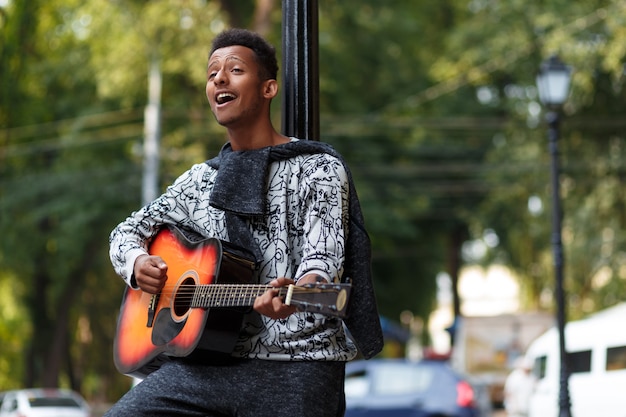
[{"label": "blurred leafy background behind the man, cars and lamp post", "polygon": [[[535,84],[552,54],[573,68],[559,139],[567,316],[626,299],[625,5],[319,1],[321,139],[365,211],[381,356],[482,340],[463,370],[505,375],[554,324]],[[131,386],[112,361],[124,285],[108,235],[142,204],[145,139],[160,144],[159,193],[214,156],[211,40],[245,27],[281,55],[281,21],[279,0],[0,0],[0,390],[64,386],[99,404]]]}]

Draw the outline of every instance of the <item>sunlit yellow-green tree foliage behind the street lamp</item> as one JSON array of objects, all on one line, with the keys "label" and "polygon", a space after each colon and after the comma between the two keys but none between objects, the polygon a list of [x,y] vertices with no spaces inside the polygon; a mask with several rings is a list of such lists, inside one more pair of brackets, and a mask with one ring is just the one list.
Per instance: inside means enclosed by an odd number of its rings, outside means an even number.
[{"label": "sunlit yellow-green tree foliage behind the street lamp", "polygon": [[609,260],[621,258],[614,245],[621,239],[615,231],[623,228],[624,166],[614,161],[623,157],[624,144],[616,128],[616,108],[624,99],[619,81],[624,32],[616,28],[624,10],[614,1],[560,6],[472,2],[472,16],[450,34],[447,53],[435,63],[433,74],[442,83],[475,87],[484,94],[483,105],[506,111],[510,125],[498,136],[489,159],[511,168],[505,180],[512,186],[490,193],[474,227],[496,231],[501,245],[494,255],[519,274],[527,305],[549,308],[551,303],[542,302],[540,295],[553,286],[551,219],[547,210],[527,210],[529,199],[548,206],[551,192],[534,75],[540,61],[554,52],[575,68],[560,147],[566,289],[570,310],[580,315],[624,297],[615,291],[623,273]]}]

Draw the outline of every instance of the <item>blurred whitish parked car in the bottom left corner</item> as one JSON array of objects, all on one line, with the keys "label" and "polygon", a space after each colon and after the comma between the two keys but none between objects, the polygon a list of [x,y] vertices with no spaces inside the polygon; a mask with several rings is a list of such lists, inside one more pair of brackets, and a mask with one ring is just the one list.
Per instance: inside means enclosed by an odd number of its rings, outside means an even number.
[{"label": "blurred whitish parked car in the bottom left corner", "polygon": [[87,402],[64,389],[21,389],[0,393],[0,417],[89,417]]}]

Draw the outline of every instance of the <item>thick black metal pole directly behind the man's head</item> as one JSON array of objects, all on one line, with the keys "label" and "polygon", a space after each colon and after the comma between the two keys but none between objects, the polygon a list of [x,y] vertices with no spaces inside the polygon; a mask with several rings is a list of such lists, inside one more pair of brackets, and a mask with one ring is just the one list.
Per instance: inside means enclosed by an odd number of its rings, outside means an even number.
[{"label": "thick black metal pole directly behind the man's head", "polygon": [[319,140],[317,0],[283,0],[282,133]]}]

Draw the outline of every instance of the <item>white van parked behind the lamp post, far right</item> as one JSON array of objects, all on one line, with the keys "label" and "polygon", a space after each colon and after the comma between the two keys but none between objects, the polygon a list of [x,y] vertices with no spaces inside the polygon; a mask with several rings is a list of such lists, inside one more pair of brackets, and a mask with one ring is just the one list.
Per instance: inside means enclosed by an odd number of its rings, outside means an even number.
[{"label": "white van parked behind the lamp post, far right", "polygon": [[[565,327],[571,415],[626,417],[626,303]],[[557,416],[559,339],[551,328],[528,347],[537,378],[529,417]]]}]

